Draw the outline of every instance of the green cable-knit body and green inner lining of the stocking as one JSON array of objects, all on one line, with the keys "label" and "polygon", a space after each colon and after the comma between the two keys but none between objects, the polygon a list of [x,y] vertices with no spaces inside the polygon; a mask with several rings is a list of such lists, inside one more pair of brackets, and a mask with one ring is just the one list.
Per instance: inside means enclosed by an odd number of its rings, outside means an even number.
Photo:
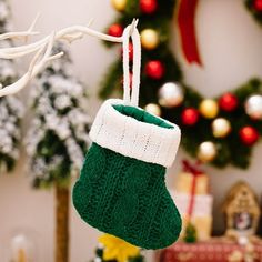
[{"label": "green cable-knit body and green inner lining of the stocking", "polygon": [[[135,124],[173,129],[138,108],[118,104],[111,109]],[[103,124],[98,133],[101,129]],[[73,188],[73,203],[90,225],[144,249],[162,249],[172,244],[181,231],[181,218],[164,175],[165,167],[123,155],[93,140]]]}]

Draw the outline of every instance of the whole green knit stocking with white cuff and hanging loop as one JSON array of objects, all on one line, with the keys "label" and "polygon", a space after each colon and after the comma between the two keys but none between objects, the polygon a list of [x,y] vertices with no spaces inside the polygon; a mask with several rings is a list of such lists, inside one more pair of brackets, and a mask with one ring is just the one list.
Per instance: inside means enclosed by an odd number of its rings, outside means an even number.
[{"label": "whole green knit stocking with white cuff and hanging loop", "polygon": [[164,184],[181,134],[178,125],[138,107],[141,46],[133,29],[130,89],[131,29],[123,32],[123,100],[107,100],[94,119],[93,143],[73,188],[73,203],[90,225],[137,246],[162,249],[181,231],[180,214]]}]

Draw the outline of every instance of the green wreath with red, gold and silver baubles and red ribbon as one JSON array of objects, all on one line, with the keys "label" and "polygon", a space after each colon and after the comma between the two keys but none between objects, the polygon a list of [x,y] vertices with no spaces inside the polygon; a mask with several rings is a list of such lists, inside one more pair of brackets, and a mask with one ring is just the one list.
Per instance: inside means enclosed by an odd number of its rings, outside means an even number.
[{"label": "green wreath with red, gold and silver baubles and red ribbon", "polygon": [[[119,17],[107,29],[109,34],[122,36],[133,17],[140,19],[143,48],[140,103],[147,111],[180,125],[182,145],[192,157],[218,168],[228,164],[248,168],[253,145],[262,134],[262,82],[251,79],[218,98],[205,99],[184,84],[169,48],[175,0],[112,0],[112,4]],[[178,24],[188,62],[201,64],[193,28],[196,4],[198,0],[180,1]],[[131,44],[130,54],[132,58]],[[115,90],[121,92],[121,79],[120,53],[104,78],[101,98]]]}]

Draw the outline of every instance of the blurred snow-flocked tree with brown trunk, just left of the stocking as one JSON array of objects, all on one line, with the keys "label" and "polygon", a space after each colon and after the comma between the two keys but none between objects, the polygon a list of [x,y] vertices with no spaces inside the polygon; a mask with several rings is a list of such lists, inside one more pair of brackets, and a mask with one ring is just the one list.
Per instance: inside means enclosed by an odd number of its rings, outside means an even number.
[{"label": "blurred snow-flocked tree with brown trunk, just left of the stocking", "polygon": [[56,188],[56,261],[68,261],[70,178],[82,165],[89,145],[89,123],[84,87],[70,70],[68,50],[38,77],[32,87],[34,117],[27,135],[27,151],[34,188]]}]

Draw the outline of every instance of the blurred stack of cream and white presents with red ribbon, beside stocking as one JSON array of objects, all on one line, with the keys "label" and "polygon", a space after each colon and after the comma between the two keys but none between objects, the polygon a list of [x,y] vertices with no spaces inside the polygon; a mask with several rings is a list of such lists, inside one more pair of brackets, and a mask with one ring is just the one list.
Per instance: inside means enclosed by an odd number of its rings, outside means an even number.
[{"label": "blurred stack of cream and white presents with red ribbon, beside stocking", "polygon": [[182,216],[180,238],[194,242],[208,240],[212,231],[213,196],[209,192],[209,178],[189,161],[183,161],[183,172],[179,174],[172,198]]}]

